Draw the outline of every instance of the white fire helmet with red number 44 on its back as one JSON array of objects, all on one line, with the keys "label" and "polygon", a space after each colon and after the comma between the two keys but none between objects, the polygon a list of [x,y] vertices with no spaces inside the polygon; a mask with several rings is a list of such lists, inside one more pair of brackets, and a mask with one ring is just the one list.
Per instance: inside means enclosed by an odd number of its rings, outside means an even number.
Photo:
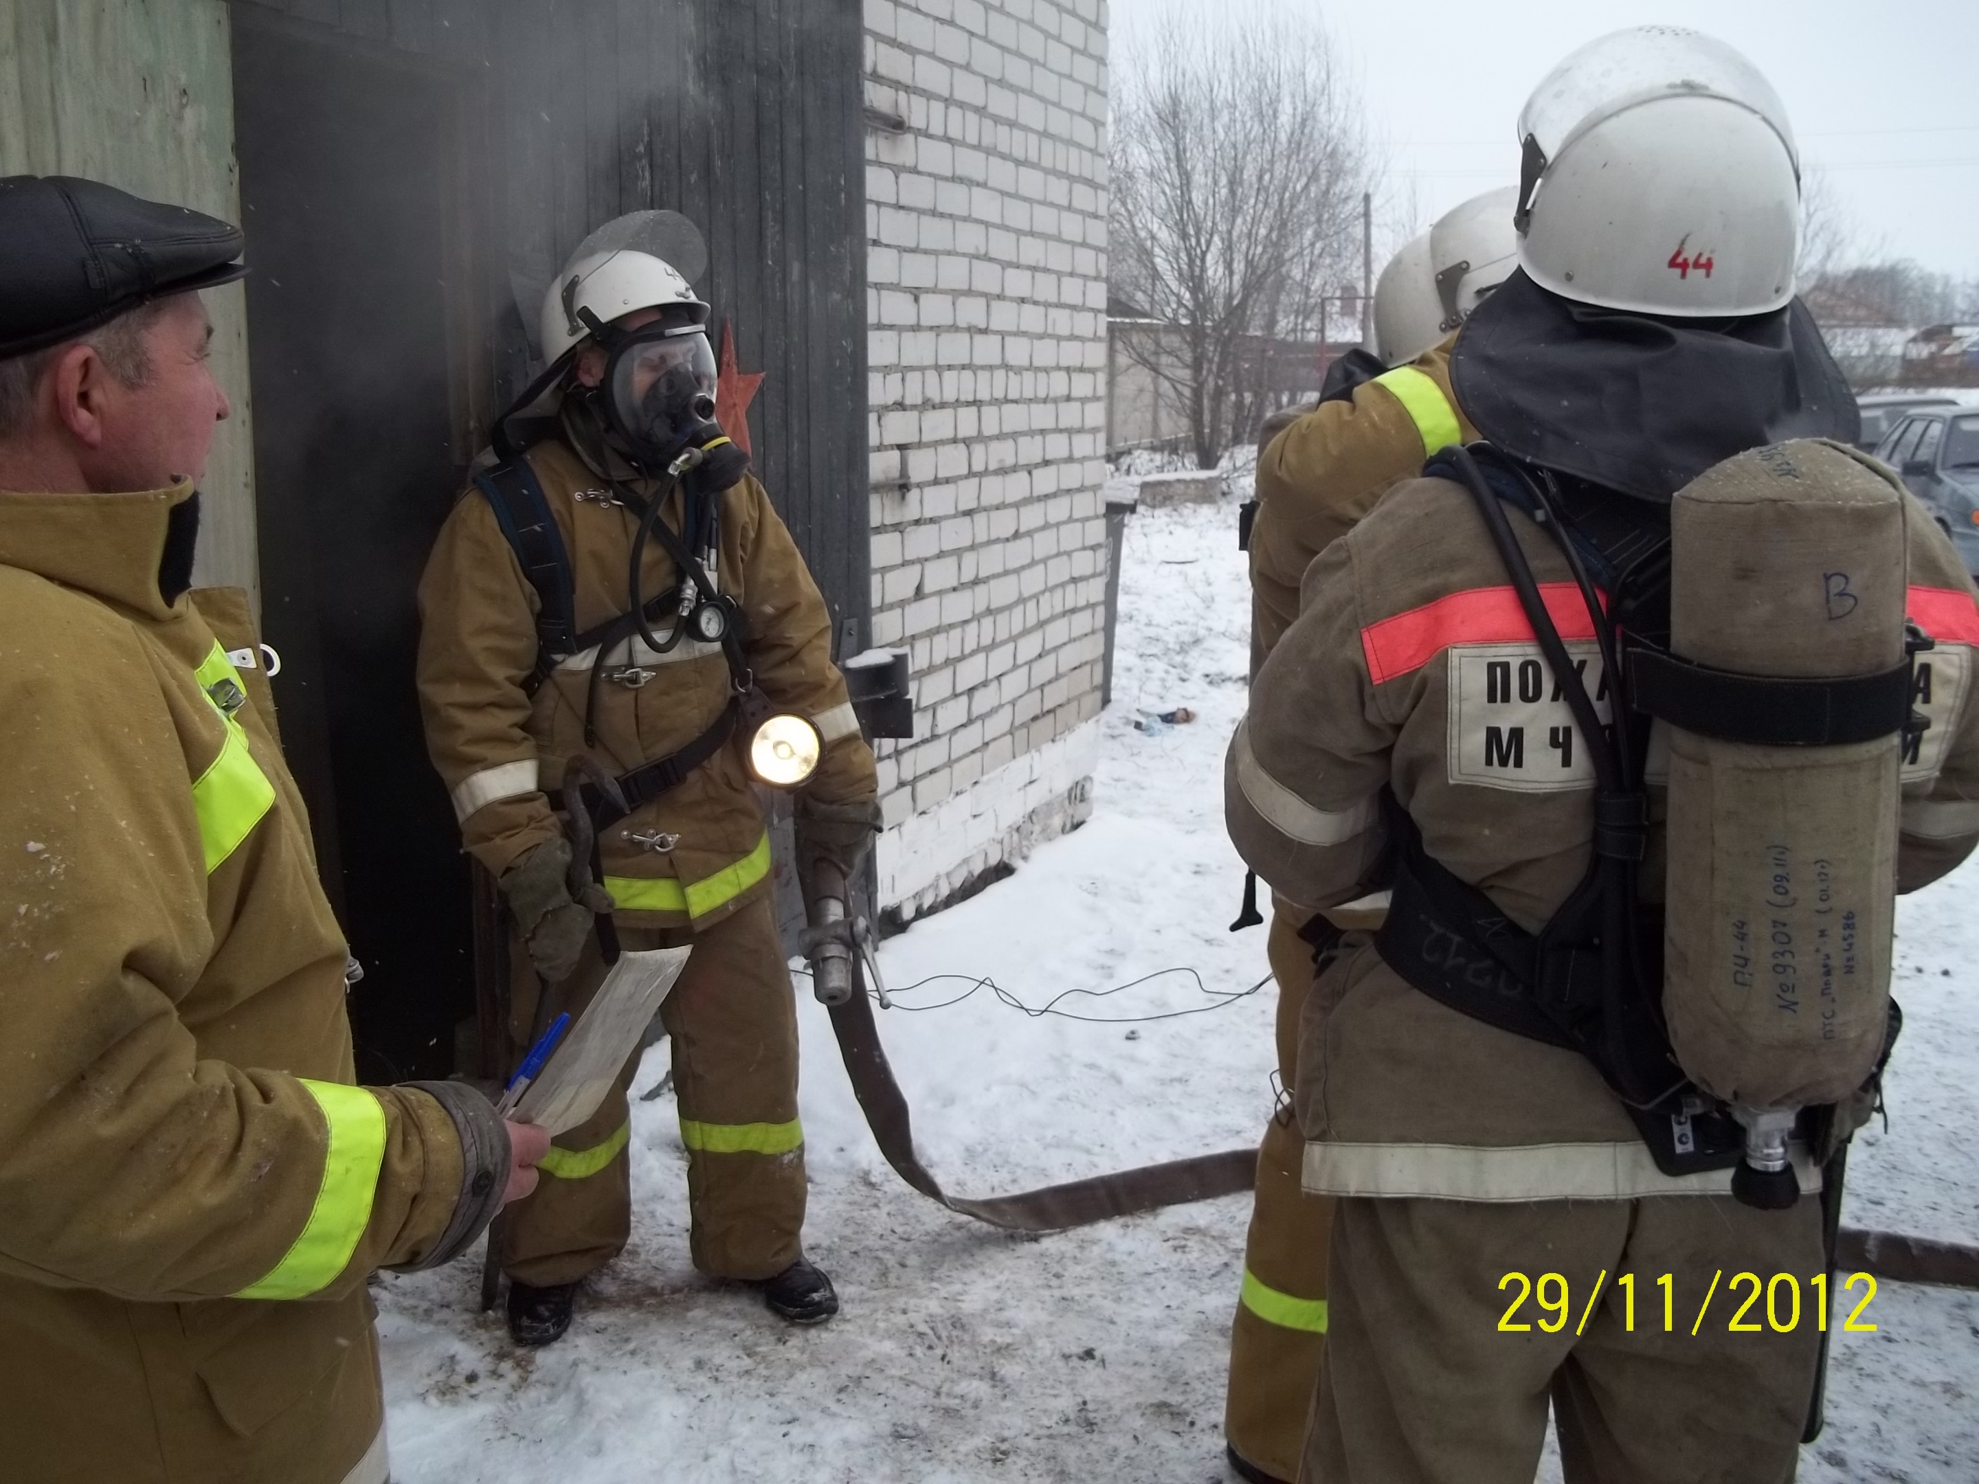
[{"label": "white fire helmet with red number 44 on its back", "polygon": [[1670,317],[1763,315],[1793,297],[1793,129],[1724,42],[1676,26],[1589,42],[1534,89],[1518,139],[1518,259],[1540,287]]}]

